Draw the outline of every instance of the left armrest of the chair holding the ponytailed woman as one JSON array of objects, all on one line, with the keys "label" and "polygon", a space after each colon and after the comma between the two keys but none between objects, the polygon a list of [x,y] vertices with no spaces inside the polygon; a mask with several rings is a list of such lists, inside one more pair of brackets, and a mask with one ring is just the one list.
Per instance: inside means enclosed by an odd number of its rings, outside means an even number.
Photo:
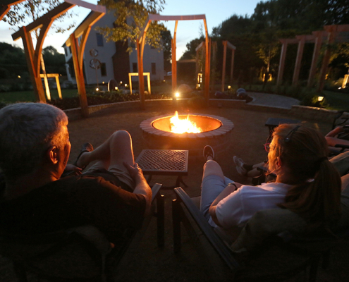
[{"label": "left armrest of the chair holding the ponytailed woman", "polygon": [[[228,245],[224,243],[223,240],[221,240],[219,235],[214,232],[212,226],[209,225],[202,212],[197,209],[188,194],[180,187],[175,188],[174,192],[176,192],[177,201],[179,201],[177,204],[179,204],[180,202],[183,203],[190,216],[192,216],[192,219],[195,221],[195,223],[197,223],[197,226],[200,228],[205,238],[207,238],[214,250],[219,254],[224,262],[226,262],[230,269],[237,269],[239,264],[235,260],[232,250]],[[176,212],[176,209],[173,209],[173,211]]]}]

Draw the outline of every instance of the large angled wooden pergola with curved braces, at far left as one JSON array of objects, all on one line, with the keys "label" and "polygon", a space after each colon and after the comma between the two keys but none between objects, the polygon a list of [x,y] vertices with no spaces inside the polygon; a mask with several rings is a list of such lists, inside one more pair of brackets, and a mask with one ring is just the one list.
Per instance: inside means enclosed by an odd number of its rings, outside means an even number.
[{"label": "large angled wooden pergola with curved braces, at far left", "polygon": [[[11,2],[11,1],[8,1]],[[18,4],[21,1],[13,1],[11,4],[7,4],[6,9],[5,6],[1,6],[1,17],[4,16],[11,5]],[[74,6],[80,6],[84,8],[89,8],[92,10],[90,16],[82,23],[75,32],[70,36],[68,42],[72,44],[72,54],[73,54],[73,63],[75,69],[75,76],[78,84],[78,92],[80,97],[80,105],[82,109],[82,116],[88,116],[88,107],[87,107],[87,98],[86,98],[86,90],[85,90],[85,81],[82,75],[82,56],[83,51],[85,49],[85,44],[87,37],[90,33],[92,25],[102,18],[106,13],[106,8],[104,6],[93,5],[90,3],[86,3],[81,0],[65,0],[59,6],[52,9],[48,13],[46,13],[41,18],[37,18],[37,20],[33,21],[27,26],[20,27],[20,29],[13,33],[13,40],[17,40],[22,38],[23,46],[25,51],[25,58],[27,60],[27,66],[29,68],[30,78],[32,80],[33,90],[37,97],[37,100],[40,102],[46,102],[46,97],[44,95],[44,87],[42,87],[42,80],[40,75],[40,54],[42,53],[42,45],[44,44],[44,39],[49,31],[49,27],[51,27],[52,23],[56,18],[66,13],[69,9]],[[34,44],[32,42],[32,36],[30,32],[39,29],[39,37],[37,39],[37,44],[34,48]],[[78,37],[82,36],[80,40],[80,44],[78,44]],[[69,45],[68,45],[69,46]]]}]

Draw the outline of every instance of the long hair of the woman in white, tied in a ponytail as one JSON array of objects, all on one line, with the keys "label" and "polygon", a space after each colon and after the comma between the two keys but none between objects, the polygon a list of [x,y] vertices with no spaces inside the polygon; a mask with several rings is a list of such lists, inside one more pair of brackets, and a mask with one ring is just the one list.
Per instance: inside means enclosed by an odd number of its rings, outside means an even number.
[{"label": "long hair of the woman in white, tied in a ponytail", "polygon": [[279,125],[273,134],[273,159],[286,165],[293,186],[280,207],[302,216],[312,228],[329,228],[341,216],[341,177],[328,160],[321,133],[302,125]]}]

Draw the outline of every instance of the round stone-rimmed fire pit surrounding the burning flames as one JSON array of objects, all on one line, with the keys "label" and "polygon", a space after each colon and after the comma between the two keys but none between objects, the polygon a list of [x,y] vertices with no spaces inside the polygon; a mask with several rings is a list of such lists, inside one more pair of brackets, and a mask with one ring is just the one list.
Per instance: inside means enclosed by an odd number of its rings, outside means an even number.
[{"label": "round stone-rimmed fire pit surrounding the burning flames", "polygon": [[[176,117],[176,116],[175,116]],[[187,149],[189,157],[202,157],[205,145],[214,152],[224,152],[230,145],[234,124],[226,118],[208,114],[179,115],[180,121],[189,119],[200,128],[200,133],[173,133],[173,116],[155,116],[140,123],[142,136],[149,149]],[[194,131],[196,132],[196,131]]]}]

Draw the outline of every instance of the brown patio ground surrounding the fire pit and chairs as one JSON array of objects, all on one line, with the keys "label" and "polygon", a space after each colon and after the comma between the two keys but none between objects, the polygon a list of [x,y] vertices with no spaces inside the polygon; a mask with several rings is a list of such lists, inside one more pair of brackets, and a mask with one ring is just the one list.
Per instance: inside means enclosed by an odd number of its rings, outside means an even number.
[{"label": "brown patio ground surrounding the fire pit and chairs", "polygon": [[[186,111],[178,110],[180,113]],[[94,147],[102,144],[115,130],[128,130],[133,137],[133,149],[135,158],[146,149],[143,145],[140,123],[152,116],[163,114],[172,115],[174,109],[161,107],[161,109],[138,110],[116,110],[104,109],[94,113],[90,118],[78,121],[71,121],[68,125],[71,140],[71,157],[69,163],[73,163],[78,156],[80,146],[84,142],[91,142]],[[267,118],[296,118],[302,120],[307,126],[318,128],[322,133],[327,133],[331,129],[329,123],[317,123],[316,121],[305,121],[297,116],[288,116],[284,114],[274,114],[263,111],[247,111],[240,109],[214,108],[195,109],[190,113],[213,114],[222,116],[233,121],[235,127],[231,135],[231,145],[225,152],[216,156],[216,160],[221,164],[224,173],[240,183],[249,183],[249,180],[238,175],[233,164],[233,156],[242,157],[247,163],[255,164],[263,161],[267,157],[263,144],[269,135],[268,128],[264,126]],[[190,196],[200,195],[200,183],[202,178],[202,158],[190,159],[188,166],[188,176],[183,180],[188,185],[185,190]],[[152,183],[163,183],[164,185],[173,185],[174,177],[153,176]],[[165,246],[163,249],[157,247],[156,224],[153,220],[150,224],[145,237],[143,238],[137,250],[130,252],[125,258],[122,266],[119,268],[118,278],[121,281],[209,281],[210,277],[207,269],[204,267],[202,257],[197,254],[195,247],[189,238],[183,238],[183,247],[180,254],[174,255],[172,249],[172,226],[171,226],[171,200],[174,193],[164,191],[165,209],[166,209],[166,234]],[[183,232],[185,233],[185,232]],[[326,271],[321,271],[318,281],[347,281],[349,244],[343,245],[341,250],[333,253],[333,263]],[[1,281],[16,281],[13,279],[11,271],[6,270],[8,263],[0,259],[0,277]]]}]

